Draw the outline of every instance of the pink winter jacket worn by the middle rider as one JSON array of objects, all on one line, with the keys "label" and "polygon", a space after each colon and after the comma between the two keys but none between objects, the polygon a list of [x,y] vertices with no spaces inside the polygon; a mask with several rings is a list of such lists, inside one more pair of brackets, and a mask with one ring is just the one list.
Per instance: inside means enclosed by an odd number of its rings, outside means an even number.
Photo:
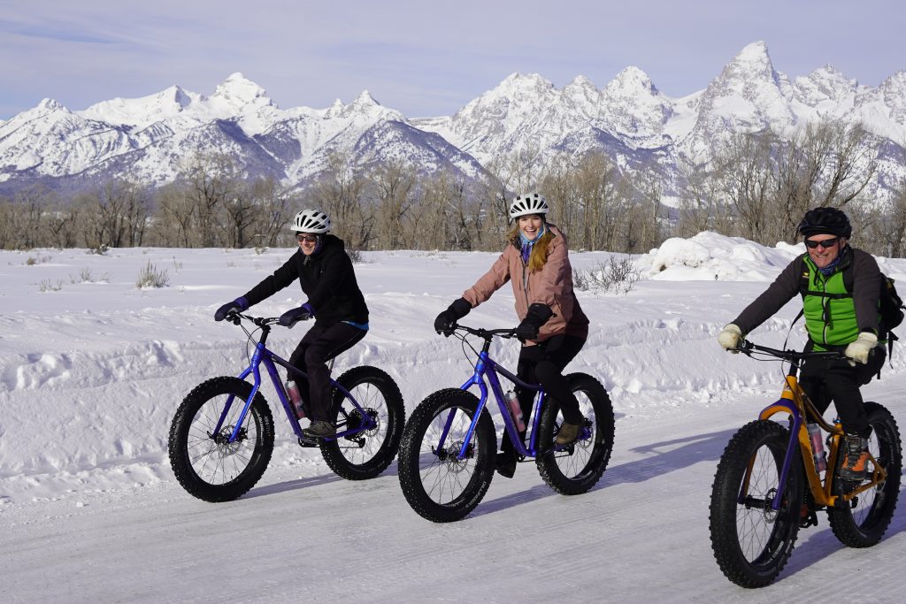
[{"label": "pink winter jacket worn by the middle rider", "polygon": [[[462,297],[475,308],[504,283],[512,281],[519,321],[525,319],[529,305],[535,302],[546,304],[554,312],[541,326],[536,341],[547,340],[560,333],[585,340],[588,338],[588,317],[582,312],[573,292],[573,267],[569,264],[566,240],[556,226],[547,225],[547,228],[554,239],[547,248],[547,262],[540,271],[529,272],[522,262],[520,249],[516,244],[507,244],[491,270],[463,292]],[[530,340],[527,343],[535,342]]]}]

